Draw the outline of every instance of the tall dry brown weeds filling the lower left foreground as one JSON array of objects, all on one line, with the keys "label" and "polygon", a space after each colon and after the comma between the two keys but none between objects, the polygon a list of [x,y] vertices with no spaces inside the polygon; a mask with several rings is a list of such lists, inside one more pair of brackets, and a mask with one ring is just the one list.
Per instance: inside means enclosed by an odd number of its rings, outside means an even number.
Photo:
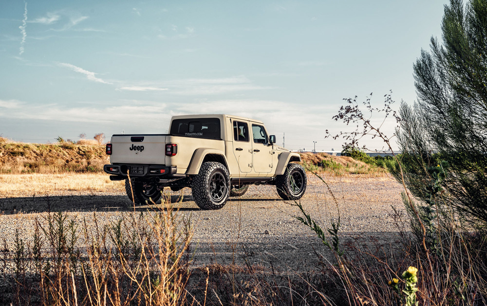
[{"label": "tall dry brown weeds filling the lower left foreground", "polygon": [[105,227],[94,219],[94,226],[84,219],[78,227],[66,213],[48,212],[35,220],[32,244],[16,232],[12,251],[0,259],[0,304],[186,304],[193,233],[187,218],[165,202],[158,212],[123,214]]}]

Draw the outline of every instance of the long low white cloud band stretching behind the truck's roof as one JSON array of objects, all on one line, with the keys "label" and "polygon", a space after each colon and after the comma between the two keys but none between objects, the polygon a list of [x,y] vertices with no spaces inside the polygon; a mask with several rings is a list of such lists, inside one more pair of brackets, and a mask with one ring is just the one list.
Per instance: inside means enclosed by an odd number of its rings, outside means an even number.
[{"label": "long low white cloud band stretching behind the truck's roof", "polygon": [[[308,106],[277,100],[203,100],[194,103],[160,103],[151,101],[116,101],[96,103],[93,106],[39,105],[17,100],[0,100],[0,117],[17,119],[56,120],[90,123],[144,123],[145,128],[160,128],[173,115],[216,113],[243,116],[261,120],[271,133],[295,130],[322,131],[329,127],[323,117],[335,109],[330,106]],[[110,116],[107,116],[110,114]],[[303,123],[306,123],[305,125]]]}]

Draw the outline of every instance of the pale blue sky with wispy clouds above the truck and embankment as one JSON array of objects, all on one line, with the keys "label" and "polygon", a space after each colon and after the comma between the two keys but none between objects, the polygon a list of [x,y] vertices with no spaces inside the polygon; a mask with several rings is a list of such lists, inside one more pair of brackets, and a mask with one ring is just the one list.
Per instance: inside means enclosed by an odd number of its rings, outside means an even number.
[{"label": "pale blue sky with wispy clouds above the truck and embankment", "polygon": [[344,98],[414,103],[412,65],[441,39],[446,3],[1,0],[0,135],[108,140],[226,113],[263,121],[288,149],[339,151],[325,130],[355,130],[332,119]]}]

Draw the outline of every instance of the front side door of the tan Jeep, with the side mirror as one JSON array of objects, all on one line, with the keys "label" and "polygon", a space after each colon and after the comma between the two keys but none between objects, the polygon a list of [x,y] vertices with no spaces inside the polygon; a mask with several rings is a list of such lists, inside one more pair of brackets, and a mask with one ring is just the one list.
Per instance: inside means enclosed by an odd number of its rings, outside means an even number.
[{"label": "front side door of the tan Jeep, with the side mirror", "polygon": [[254,171],[265,176],[272,170],[272,145],[269,145],[269,137],[264,126],[252,124],[252,153],[254,154]]}]

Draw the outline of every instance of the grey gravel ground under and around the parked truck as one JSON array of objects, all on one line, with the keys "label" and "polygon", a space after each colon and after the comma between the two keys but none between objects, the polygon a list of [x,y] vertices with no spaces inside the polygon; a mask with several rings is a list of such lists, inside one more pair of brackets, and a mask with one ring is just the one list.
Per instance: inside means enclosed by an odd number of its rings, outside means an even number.
[{"label": "grey gravel ground under and around the parked truck", "polygon": [[[327,186],[316,177],[308,177],[308,189],[301,204],[323,229],[330,227],[340,215],[340,239],[356,237],[379,239],[384,243],[397,240],[393,209],[402,211],[402,186],[389,177],[324,178]],[[208,263],[250,263],[281,270],[300,270],[317,261],[314,252],[331,259],[331,253],[314,233],[296,220],[298,207],[281,200],[274,186],[251,186],[241,198],[231,198],[218,211],[202,211],[193,201],[188,188],[182,190],[183,200],[177,204],[180,213],[188,216],[194,228],[192,250],[196,266]],[[171,201],[178,201],[171,192]],[[144,213],[162,205],[138,206]],[[13,246],[15,231],[26,240],[32,239],[34,219],[46,211],[61,210],[75,217],[79,225],[86,218],[93,222],[96,212],[101,224],[117,220],[121,212],[133,211],[125,194],[65,192],[62,196],[0,198],[0,237]],[[81,233],[80,233],[81,235]],[[342,241],[343,241],[342,240]],[[232,246],[235,252],[232,252]]]}]

